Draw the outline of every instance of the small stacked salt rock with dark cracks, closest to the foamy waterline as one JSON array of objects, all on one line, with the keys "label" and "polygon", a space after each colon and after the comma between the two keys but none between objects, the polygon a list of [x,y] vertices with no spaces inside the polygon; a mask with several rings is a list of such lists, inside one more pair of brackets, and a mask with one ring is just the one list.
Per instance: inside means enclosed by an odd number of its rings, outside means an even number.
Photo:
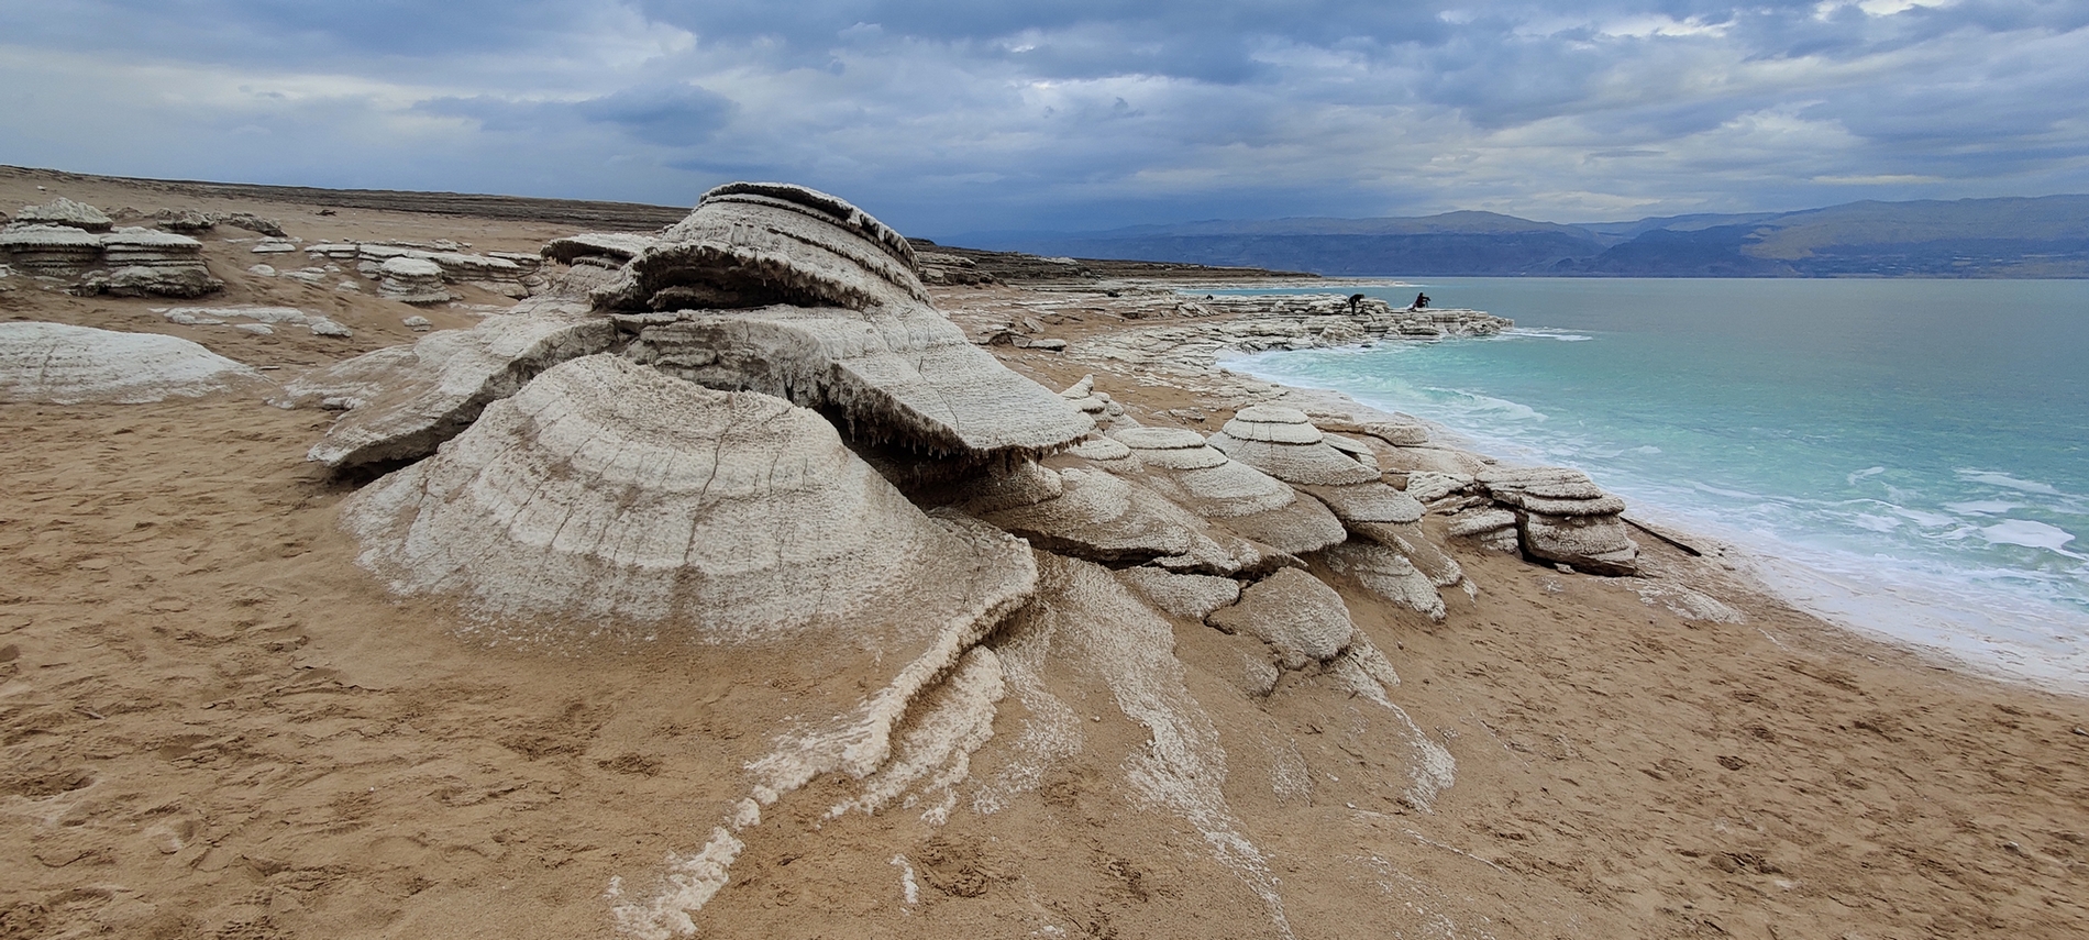
[{"label": "small stacked salt rock with dark cracks, closest to the foamy waterline", "polygon": [[1640,545],[1625,535],[1625,501],[1581,470],[1494,468],[1475,480],[1517,514],[1523,554],[1592,574],[1636,574]]}]

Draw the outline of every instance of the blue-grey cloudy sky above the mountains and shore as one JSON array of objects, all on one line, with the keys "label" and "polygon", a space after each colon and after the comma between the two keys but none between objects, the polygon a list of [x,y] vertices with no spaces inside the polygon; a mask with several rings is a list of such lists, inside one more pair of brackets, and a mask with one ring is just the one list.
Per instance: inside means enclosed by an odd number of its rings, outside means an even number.
[{"label": "blue-grey cloudy sky above the mountains and shore", "polygon": [[0,0],[0,163],[917,236],[2089,192],[2089,0]]}]

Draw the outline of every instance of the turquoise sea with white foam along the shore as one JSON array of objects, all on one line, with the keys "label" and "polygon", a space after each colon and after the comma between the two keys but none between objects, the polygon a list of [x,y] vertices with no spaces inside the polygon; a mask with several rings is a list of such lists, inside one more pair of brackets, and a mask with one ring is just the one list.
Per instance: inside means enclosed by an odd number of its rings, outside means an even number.
[{"label": "turquoise sea with white foam along the shore", "polygon": [[[1437,278],[1492,338],[1224,366],[1588,470],[1851,629],[2089,691],[2089,282]],[[1228,290],[1260,292],[1260,290]],[[1268,290],[1268,292],[1295,292]]]}]

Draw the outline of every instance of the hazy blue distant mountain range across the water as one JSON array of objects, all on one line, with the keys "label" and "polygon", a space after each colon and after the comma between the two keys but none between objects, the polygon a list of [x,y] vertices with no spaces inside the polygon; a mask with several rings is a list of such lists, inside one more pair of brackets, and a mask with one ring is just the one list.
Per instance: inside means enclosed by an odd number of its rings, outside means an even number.
[{"label": "hazy blue distant mountain range across the water", "polygon": [[999,251],[1377,276],[2089,278],[2089,196],[1560,226],[1500,213],[982,232]]}]

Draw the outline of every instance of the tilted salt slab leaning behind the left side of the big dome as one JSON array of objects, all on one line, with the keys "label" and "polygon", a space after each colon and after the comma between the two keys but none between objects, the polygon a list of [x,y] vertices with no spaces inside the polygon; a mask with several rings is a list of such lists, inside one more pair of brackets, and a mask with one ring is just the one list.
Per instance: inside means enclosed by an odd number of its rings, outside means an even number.
[{"label": "tilted salt slab leaning behind the left side of the big dome", "polygon": [[616,326],[585,305],[535,299],[470,330],[430,332],[301,376],[272,403],[349,409],[311,447],[309,460],[330,468],[418,460],[539,372],[614,343]]}]

